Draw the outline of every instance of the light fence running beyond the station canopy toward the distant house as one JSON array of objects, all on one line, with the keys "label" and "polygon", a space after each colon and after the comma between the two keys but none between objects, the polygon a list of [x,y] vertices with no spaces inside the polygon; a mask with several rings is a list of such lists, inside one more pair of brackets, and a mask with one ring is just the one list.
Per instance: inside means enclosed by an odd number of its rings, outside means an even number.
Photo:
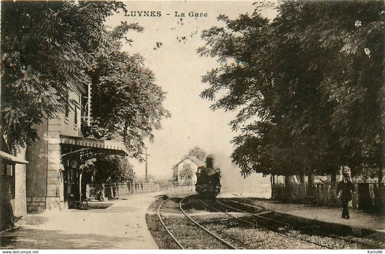
[{"label": "light fence running beyond the station canopy toward the distant house", "polygon": [[85,195],[90,201],[102,201],[104,198],[160,190],[159,185],[153,183],[87,184]]}]

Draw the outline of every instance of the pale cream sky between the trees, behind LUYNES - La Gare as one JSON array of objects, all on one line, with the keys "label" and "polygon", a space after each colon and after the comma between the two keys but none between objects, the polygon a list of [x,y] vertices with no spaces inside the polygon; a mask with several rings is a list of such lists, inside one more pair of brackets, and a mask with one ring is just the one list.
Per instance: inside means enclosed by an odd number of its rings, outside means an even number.
[{"label": "pale cream sky between the trees, behind LUYNES - La Gare", "polygon": [[[189,149],[198,146],[208,154],[213,154],[214,165],[222,171],[222,181],[227,184],[236,180],[239,185],[245,181],[268,183],[269,178],[252,175],[244,180],[237,165],[229,158],[233,151],[230,143],[234,136],[229,122],[236,112],[211,111],[213,103],[199,97],[208,84],[201,82],[201,76],[219,67],[216,59],[199,57],[198,47],[204,46],[201,32],[212,26],[224,26],[216,19],[219,14],[236,18],[239,14],[253,13],[255,1],[127,1],[127,14],[116,13],[107,22],[114,27],[121,21],[138,23],[144,27],[142,33],[129,32],[127,38],[134,40],[132,46],[124,43],[123,50],[139,53],[145,59],[145,66],[156,77],[156,84],[167,92],[164,107],[171,112],[171,118],[162,120],[162,130],[154,130],[155,139],[146,140],[148,174],[170,176],[172,166],[186,155]],[[161,17],[135,17],[132,12],[160,12]],[[186,17],[176,17],[185,13]],[[206,17],[188,17],[189,12],[207,13]],[[170,14],[170,15],[167,15]],[[273,10],[265,10],[263,15],[274,18]],[[182,39],[186,37],[185,39]],[[158,43],[158,46],[157,46]],[[145,164],[131,160],[136,175],[145,174]]]}]

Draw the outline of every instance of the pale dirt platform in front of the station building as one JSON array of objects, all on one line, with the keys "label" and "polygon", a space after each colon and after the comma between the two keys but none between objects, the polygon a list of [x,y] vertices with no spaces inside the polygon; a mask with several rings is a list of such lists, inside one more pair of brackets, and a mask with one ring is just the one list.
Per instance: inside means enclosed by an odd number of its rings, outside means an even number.
[{"label": "pale dirt platform in front of the station building", "polygon": [[1,249],[158,249],[145,218],[158,194],[90,202],[87,210],[28,214],[19,229],[2,234]]}]

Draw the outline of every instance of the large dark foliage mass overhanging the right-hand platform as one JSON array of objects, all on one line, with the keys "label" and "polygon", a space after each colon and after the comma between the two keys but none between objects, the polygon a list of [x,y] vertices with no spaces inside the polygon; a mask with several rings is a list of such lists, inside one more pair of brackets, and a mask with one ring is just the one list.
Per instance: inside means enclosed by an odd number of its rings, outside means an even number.
[{"label": "large dark foliage mass overhanging the right-hand platform", "polygon": [[[383,2],[266,5],[236,20],[221,15],[226,27],[204,30],[198,48],[221,64],[203,77],[201,97],[216,99],[213,110],[239,111],[233,162],[244,176],[382,169]],[[274,20],[259,14],[266,7]]]}]

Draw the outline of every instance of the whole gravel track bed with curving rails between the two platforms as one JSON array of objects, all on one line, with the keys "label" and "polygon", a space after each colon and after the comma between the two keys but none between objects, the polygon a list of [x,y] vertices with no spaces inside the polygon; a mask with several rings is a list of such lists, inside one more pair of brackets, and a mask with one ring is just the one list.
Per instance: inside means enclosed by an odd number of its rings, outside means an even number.
[{"label": "whole gravel track bed with curving rails between the two platforms", "polygon": [[[235,246],[233,246],[229,242],[224,241],[223,239],[221,239],[221,237],[225,237],[226,239],[234,239],[234,241],[237,242],[237,246],[243,246],[243,244],[246,243],[246,245],[244,246],[246,248],[263,248],[263,246],[265,245],[261,245],[262,242],[266,242],[267,247],[275,246],[273,248],[277,248],[278,246],[275,245],[275,242],[277,241],[276,239],[280,239],[277,237],[281,237],[281,239],[296,239],[296,241],[293,242],[286,242],[285,246],[287,247],[287,245],[289,244],[289,248],[295,246],[295,244],[297,244],[297,246],[301,246],[301,242],[303,242],[303,246],[307,245],[310,249],[315,248],[316,246],[318,248],[322,247],[325,249],[343,249],[345,247],[353,249],[383,249],[384,247],[383,243],[374,240],[366,242],[366,239],[364,238],[345,238],[335,236],[326,232],[313,230],[300,225],[292,225],[290,223],[280,221],[276,218],[269,218],[269,215],[266,215],[266,212],[268,211],[266,211],[263,206],[250,206],[253,208],[249,209],[250,207],[248,204],[244,204],[242,202],[236,203],[240,206],[237,204],[228,204],[228,202],[223,201],[215,201],[215,203],[210,203],[206,200],[203,201],[201,199],[195,199],[192,194],[177,195],[161,202],[158,207],[158,217],[162,223],[162,226],[166,229],[167,234],[172,238],[172,240],[171,238],[169,238],[169,243],[173,245],[175,242],[178,246],[175,247],[180,249],[236,249]],[[186,212],[185,209],[189,212]],[[190,209],[192,210],[190,211]],[[194,211],[205,212],[203,212],[202,214],[203,217],[198,217],[196,216],[198,214],[195,214]],[[211,216],[211,218],[213,219],[207,220],[208,213],[212,211],[216,211],[221,214],[226,214],[226,216],[233,217],[234,219],[219,219],[218,221],[217,219],[214,219],[215,217]],[[162,215],[161,212],[163,212],[164,214]],[[166,212],[170,213],[166,214]],[[233,212],[235,212],[235,214],[233,214]],[[194,219],[192,219],[191,217],[193,217]],[[213,223],[210,222],[211,220],[214,220],[216,222],[214,222],[214,224],[211,224]],[[166,223],[164,221],[166,221]],[[238,227],[238,229],[235,229],[234,227],[234,225],[238,224],[238,222],[236,221],[239,221],[241,223],[239,224],[239,226],[236,226]],[[232,226],[229,228],[228,231],[226,231],[226,233],[224,233],[223,229],[227,228],[227,223]],[[243,228],[243,226],[241,226],[242,224],[249,224],[252,227]],[[238,236],[238,233],[234,231],[235,229],[239,230],[239,232],[244,232],[244,229],[246,229],[247,231],[245,231],[243,235],[247,238],[250,234],[253,234],[251,232],[255,232],[253,231],[253,229],[255,228],[260,228],[263,230],[260,231],[261,233],[266,233],[260,234],[260,237],[258,237],[259,240],[253,241],[251,245],[250,240],[245,240],[245,242],[243,242],[242,238],[236,237]],[[206,233],[202,232],[202,230],[204,230]],[[210,236],[208,236],[208,234]],[[276,236],[274,234],[276,234]],[[266,238],[266,235],[272,238]],[[357,239],[358,241],[356,241]]]}]

